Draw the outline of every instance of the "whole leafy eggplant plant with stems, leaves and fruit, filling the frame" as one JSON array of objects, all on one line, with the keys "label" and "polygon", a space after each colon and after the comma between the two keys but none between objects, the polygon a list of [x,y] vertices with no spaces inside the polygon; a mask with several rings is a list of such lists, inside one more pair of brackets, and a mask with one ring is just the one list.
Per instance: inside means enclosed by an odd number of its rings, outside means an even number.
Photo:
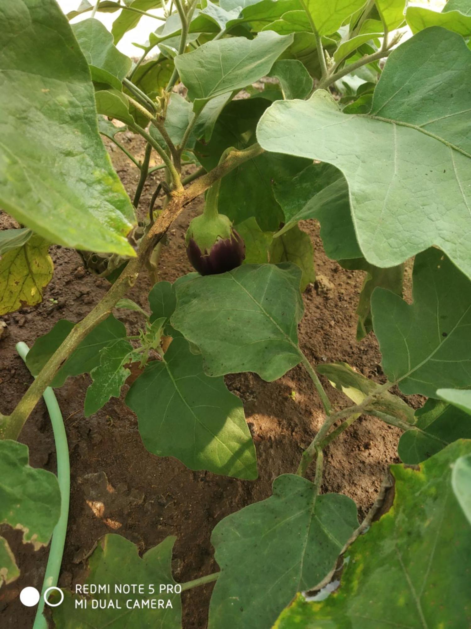
[{"label": "whole leafy eggplant plant with stems, leaves and fruit, filling the frame", "polygon": [[[111,32],[102,12],[116,15]],[[155,29],[131,60],[116,46],[144,15]],[[127,391],[149,452],[247,481],[256,448],[224,376],[271,382],[302,365],[324,409],[273,495],[215,526],[219,571],[178,584],[175,538],[140,556],[109,534],[82,586],[46,579],[35,629],[177,629],[181,592],[213,581],[209,629],[470,626],[470,0],[441,12],[405,0],[85,0],[67,16],[55,0],[3,0],[0,16],[0,206],[18,225],[0,232],[0,315],[41,302],[51,244],[99,260],[109,280],[85,318],[36,340],[33,381],[1,409],[0,523],[36,549],[60,520],[68,495],[18,438],[69,377],[90,374],[85,417]],[[143,138],[143,159],[119,140],[125,130]],[[100,134],[139,168],[132,200]],[[156,282],[140,308],[127,291],[203,194],[186,240],[195,272]],[[315,278],[305,220],[320,223],[330,259],[365,272],[356,342],[376,335],[381,382],[345,362],[311,364],[300,348]],[[139,335],[119,308],[139,310]],[[403,435],[401,463],[359,522],[352,499],[321,485],[325,447],[362,414]],[[0,542],[1,586],[21,566]],[[131,608],[123,583],[145,586]]]}]

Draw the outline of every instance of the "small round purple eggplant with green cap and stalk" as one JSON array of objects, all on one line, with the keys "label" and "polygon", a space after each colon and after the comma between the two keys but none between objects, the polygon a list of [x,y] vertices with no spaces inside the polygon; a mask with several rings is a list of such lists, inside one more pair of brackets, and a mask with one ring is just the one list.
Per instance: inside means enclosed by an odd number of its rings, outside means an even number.
[{"label": "small round purple eggplant with green cap and stalk", "polygon": [[[188,227],[188,260],[201,275],[216,275],[239,267],[246,257],[246,245],[225,214],[217,211],[217,190],[207,194],[203,214]],[[217,186],[219,187],[219,186]]]}]

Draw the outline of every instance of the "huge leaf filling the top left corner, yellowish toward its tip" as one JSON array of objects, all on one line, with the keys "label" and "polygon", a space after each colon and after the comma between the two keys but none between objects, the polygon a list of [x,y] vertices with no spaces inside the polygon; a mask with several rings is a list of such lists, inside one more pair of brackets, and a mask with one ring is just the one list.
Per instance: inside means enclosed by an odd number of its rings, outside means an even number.
[{"label": "huge leaf filling the top left corner, yellowish toward its tip", "polygon": [[[46,240],[135,255],[134,209],[100,139],[90,70],[54,0],[0,5],[0,204]],[[53,69],[53,70],[52,70]]]}]

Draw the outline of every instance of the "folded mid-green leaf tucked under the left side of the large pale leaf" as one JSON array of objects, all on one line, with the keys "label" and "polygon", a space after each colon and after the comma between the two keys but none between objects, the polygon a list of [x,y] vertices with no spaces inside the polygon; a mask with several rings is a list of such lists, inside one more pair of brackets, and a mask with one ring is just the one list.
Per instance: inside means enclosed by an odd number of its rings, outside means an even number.
[{"label": "folded mid-green leaf tucked under the left side of the large pale leaf", "polygon": [[298,221],[316,218],[325,253],[332,260],[361,255],[350,214],[349,187],[342,172],[330,164],[310,164],[294,177],[275,181],[273,192],[283,209],[281,236]]}]

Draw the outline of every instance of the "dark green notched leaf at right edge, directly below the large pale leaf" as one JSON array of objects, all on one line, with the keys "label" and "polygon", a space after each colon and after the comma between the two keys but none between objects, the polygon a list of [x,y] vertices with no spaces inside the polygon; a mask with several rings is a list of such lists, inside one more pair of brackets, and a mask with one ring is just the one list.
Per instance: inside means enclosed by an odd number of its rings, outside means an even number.
[{"label": "dark green notched leaf at right edge, directly below the large pale leaf", "polygon": [[471,282],[438,249],[416,256],[413,304],[376,288],[371,298],[382,368],[404,393],[435,397],[471,385]]}]

